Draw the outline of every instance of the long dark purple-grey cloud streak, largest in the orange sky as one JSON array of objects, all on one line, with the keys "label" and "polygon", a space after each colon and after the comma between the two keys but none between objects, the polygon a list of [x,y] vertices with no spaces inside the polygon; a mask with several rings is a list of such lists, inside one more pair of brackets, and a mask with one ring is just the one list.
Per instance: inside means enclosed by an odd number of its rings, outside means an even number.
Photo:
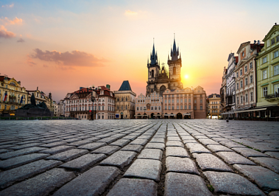
[{"label": "long dark purple-grey cloud streak, largest in the orange sky", "polygon": [[43,52],[36,48],[35,54],[31,54],[31,58],[40,59],[41,61],[52,61],[59,66],[104,66],[106,59],[98,59],[93,54],[74,50],[72,52],[57,52],[55,50]]}]

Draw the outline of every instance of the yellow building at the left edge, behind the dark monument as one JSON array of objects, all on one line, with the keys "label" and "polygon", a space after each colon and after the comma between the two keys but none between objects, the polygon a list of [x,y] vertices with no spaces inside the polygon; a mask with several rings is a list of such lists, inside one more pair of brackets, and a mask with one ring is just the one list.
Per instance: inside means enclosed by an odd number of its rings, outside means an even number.
[{"label": "yellow building at the left edge, behind the dark monument", "polygon": [[27,104],[27,91],[20,81],[0,75],[0,115],[14,115],[15,110]]}]

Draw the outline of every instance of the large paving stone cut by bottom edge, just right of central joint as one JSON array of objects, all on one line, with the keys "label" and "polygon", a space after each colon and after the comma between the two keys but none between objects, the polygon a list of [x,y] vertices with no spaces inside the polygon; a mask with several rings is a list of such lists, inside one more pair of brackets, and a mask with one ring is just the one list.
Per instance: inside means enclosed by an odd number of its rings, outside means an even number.
[{"label": "large paving stone cut by bottom edge, just right of central joint", "polygon": [[165,177],[165,196],[212,195],[201,177],[169,172]]}]

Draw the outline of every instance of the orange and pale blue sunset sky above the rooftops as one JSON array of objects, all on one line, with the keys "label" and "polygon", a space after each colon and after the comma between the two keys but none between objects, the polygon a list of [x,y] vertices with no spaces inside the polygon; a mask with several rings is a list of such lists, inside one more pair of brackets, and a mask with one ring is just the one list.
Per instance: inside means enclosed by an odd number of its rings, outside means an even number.
[{"label": "orange and pale blue sunset sky above the rooftops", "polygon": [[[0,73],[58,101],[80,86],[129,80],[146,92],[153,46],[182,56],[184,87],[219,93],[227,57],[279,23],[279,1],[1,1]],[[188,75],[188,79],[185,78]]]}]

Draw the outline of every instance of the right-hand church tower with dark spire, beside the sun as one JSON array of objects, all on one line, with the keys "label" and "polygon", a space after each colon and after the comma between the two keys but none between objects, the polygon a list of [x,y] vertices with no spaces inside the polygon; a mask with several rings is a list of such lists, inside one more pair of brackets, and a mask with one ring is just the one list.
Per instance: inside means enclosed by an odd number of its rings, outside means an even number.
[{"label": "right-hand church tower with dark spire, beside the sun", "polygon": [[167,64],[169,65],[169,80],[172,81],[172,88],[170,89],[176,89],[177,87],[179,89],[183,88],[183,84],[181,82],[181,53],[179,53],[179,47],[176,49],[176,43],[174,38],[174,45],[171,48],[170,52],[171,59],[167,59]]}]

